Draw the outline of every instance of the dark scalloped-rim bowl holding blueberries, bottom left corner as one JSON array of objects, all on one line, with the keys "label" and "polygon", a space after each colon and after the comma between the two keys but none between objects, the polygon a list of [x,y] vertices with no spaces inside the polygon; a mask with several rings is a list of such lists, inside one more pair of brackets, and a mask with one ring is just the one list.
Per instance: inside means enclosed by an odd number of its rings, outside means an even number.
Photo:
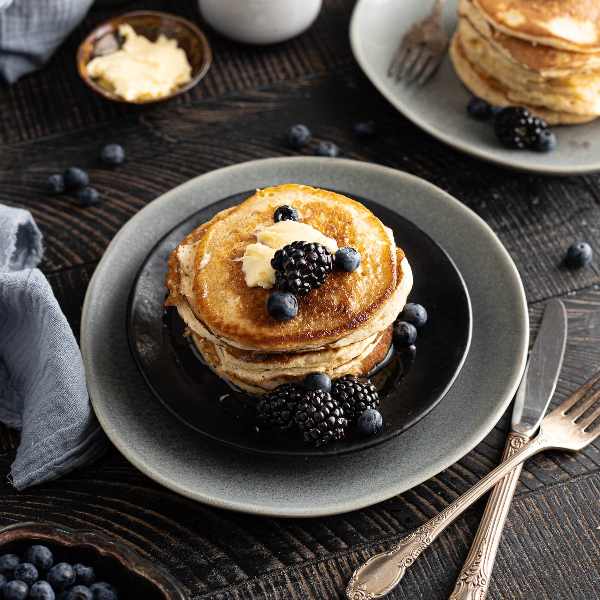
[{"label": "dark scalloped-rim bowl holding blueberries, bottom left corner", "polygon": [[172,575],[99,531],[74,531],[51,523],[19,523],[0,529],[0,554],[22,556],[36,544],[52,550],[55,565],[67,562],[93,567],[97,580],[113,584],[122,598],[189,600]]}]

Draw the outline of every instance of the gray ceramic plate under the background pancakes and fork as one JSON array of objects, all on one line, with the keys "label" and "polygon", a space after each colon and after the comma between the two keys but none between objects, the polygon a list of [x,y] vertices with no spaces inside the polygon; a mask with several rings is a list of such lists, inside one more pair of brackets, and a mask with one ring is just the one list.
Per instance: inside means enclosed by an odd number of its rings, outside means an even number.
[{"label": "gray ceramic plate under the background pancakes and fork", "polygon": [[[600,119],[585,125],[556,127],[559,146],[542,154],[515,151],[497,143],[490,125],[467,118],[471,95],[458,80],[448,56],[424,86],[397,83],[388,77],[392,56],[407,29],[433,5],[414,0],[359,0],[350,22],[352,50],[373,85],[413,123],[478,158],[512,169],[575,175],[600,169]],[[446,31],[457,26],[457,0],[443,10]]]}]

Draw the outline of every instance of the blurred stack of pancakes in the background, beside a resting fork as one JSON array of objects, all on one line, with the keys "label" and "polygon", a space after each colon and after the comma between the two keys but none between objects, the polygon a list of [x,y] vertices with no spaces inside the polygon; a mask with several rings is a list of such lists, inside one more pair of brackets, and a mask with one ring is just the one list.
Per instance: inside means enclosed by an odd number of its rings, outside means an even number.
[{"label": "blurred stack of pancakes in the background, beside a resting fork", "polygon": [[450,56],[470,91],[550,125],[600,116],[598,0],[459,0]]}]

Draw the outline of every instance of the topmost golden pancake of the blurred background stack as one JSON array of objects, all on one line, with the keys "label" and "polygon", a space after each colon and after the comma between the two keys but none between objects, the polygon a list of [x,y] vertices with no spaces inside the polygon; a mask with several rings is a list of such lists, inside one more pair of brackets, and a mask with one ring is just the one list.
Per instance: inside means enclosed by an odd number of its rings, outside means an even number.
[{"label": "topmost golden pancake of the blurred background stack", "polygon": [[474,0],[494,27],[513,37],[573,52],[600,51],[598,0]]}]

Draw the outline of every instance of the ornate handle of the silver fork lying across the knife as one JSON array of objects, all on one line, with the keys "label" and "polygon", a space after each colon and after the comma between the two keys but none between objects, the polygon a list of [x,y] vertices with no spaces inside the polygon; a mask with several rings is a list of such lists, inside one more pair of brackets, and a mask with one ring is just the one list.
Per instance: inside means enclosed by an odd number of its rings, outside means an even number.
[{"label": "ornate handle of the silver fork lying across the knife", "polygon": [[543,433],[529,444],[524,445],[505,463],[500,464],[456,502],[448,506],[445,511],[440,512],[437,517],[415,529],[406,538],[392,545],[388,551],[376,554],[364,565],[359,566],[346,588],[346,598],[349,600],[375,600],[388,595],[400,583],[406,574],[406,569],[463,511],[493,488],[515,467],[524,463],[527,458],[553,447]]}]

